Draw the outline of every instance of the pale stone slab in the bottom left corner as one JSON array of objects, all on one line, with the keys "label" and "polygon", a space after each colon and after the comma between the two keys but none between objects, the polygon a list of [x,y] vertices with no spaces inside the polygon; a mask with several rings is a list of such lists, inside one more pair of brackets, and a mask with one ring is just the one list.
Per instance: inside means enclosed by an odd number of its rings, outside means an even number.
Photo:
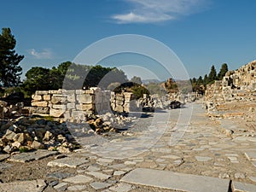
[{"label": "pale stone slab in the bottom left corner", "polygon": [[43,179],[0,183],[0,192],[41,192],[45,187]]}]

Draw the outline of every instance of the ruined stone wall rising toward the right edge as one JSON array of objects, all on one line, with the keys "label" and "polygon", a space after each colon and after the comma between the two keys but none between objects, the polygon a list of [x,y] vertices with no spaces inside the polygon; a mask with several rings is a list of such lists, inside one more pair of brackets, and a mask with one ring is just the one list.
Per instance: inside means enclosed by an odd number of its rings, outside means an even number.
[{"label": "ruined stone wall rising toward the right edge", "polygon": [[256,102],[256,61],[227,72],[223,80],[208,84],[205,101],[208,110],[227,102]]}]

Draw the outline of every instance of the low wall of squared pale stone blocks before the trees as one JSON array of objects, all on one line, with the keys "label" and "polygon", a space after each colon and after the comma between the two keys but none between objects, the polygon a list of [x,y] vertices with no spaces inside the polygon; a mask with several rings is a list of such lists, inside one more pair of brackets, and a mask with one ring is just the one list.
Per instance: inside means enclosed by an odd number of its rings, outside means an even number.
[{"label": "low wall of squared pale stone blocks before the trees", "polygon": [[129,113],[136,108],[135,96],[130,92],[117,93],[90,88],[90,90],[37,90],[32,95],[32,111],[56,118],[83,119],[86,115],[113,110]]}]

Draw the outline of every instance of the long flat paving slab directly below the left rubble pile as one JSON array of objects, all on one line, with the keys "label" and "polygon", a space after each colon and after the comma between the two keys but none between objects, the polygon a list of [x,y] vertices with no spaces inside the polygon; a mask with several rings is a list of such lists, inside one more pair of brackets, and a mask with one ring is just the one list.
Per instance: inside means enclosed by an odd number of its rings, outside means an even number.
[{"label": "long flat paving slab directly below the left rubble pile", "polygon": [[52,156],[55,154],[58,154],[58,152],[41,149],[41,150],[29,152],[29,153],[14,154],[8,160],[14,161],[14,162],[25,163],[25,162],[29,162],[32,160],[41,160],[41,159],[44,159],[46,157],[49,157],[49,156]]}]

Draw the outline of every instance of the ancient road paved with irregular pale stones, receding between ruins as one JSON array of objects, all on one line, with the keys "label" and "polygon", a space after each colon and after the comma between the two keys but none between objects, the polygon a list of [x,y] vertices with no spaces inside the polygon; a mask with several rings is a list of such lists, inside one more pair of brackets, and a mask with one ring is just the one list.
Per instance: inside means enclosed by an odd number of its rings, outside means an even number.
[{"label": "ancient road paved with irregular pale stones, receding between ruins", "polygon": [[[100,145],[49,161],[49,169],[68,166],[76,174],[52,172],[27,191],[256,191],[255,136],[228,137],[221,127],[240,125],[204,113],[193,104],[142,118],[130,137],[97,138]],[[147,129],[136,131],[138,125]],[[26,191],[24,184],[3,183],[0,191]]]}]

